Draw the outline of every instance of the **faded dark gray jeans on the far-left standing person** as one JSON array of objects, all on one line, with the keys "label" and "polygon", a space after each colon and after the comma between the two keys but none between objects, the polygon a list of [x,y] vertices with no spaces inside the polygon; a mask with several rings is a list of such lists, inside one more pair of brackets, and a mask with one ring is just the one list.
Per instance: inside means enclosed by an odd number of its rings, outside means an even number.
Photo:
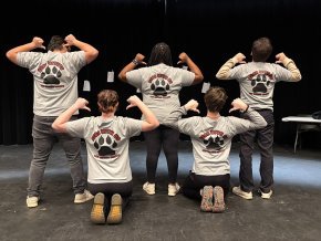
[{"label": "faded dark gray jeans on the far-left standing person", "polygon": [[[64,133],[55,133],[51,127],[51,124],[55,118],[56,117],[53,116],[33,116],[33,158],[30,164],[29,186],[27,189],[29,197],[38,197],[40,195],[44,169],[56,140],[62,144],[68,158],[74,193],[82,193],[85,189],[86,179],[84,177],[83,163],[81,158],[81,139],[71,137]],[[76,117],[72,117],[72,119],[75,118]]]}]

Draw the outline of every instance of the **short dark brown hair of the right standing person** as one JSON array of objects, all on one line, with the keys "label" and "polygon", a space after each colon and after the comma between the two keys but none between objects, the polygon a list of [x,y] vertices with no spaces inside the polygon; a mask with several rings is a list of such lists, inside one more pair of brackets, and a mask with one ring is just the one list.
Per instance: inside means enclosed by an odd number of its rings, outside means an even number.
[{"label": "short dark brown hair of the right standing person", "polygon": [[252,43],[252,60],[255,62],[266,62],[271,55],[273,46],[270,39],[260,38]]}]

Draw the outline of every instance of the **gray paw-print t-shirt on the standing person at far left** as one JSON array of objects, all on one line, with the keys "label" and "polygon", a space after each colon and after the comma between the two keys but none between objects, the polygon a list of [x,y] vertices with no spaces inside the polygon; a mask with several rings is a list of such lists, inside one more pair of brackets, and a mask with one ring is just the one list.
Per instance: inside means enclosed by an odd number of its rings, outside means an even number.
[{"label": "gray paw-print t-shirt on the standing person at far left", "polygon": [[86,64],[83,51],[20,52],[17,60],[33,74],[35,115],[59,116],[76,101],[77,73]]}]

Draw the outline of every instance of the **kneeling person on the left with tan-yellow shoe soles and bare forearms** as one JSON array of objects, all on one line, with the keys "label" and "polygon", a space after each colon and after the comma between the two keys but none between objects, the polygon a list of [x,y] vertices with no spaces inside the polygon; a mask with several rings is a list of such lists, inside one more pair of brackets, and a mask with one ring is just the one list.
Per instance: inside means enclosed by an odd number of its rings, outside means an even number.
[{"label": "kneeling person on the left with tan-yellow shoe soles and bare forearms", "polygon": [[[141,132],[156,128],[159,123],[155,115],[137,97],[131,96],[127,108],[137,106],[146,120],[115,116],[118,95],[115,91],[104,90],[97,95],[101,116],[71,120],[79,109],[87,109],[89,103],[79,98],[52,124],[60,133],[84,138],[87,149],[89,190],[95,195],[91,211],[94,223],[115,224],[122,221],[122,213],[133,192],[132,170],[130,165],[130,138]],[[105,201],[106,199],[106,201]]]}]

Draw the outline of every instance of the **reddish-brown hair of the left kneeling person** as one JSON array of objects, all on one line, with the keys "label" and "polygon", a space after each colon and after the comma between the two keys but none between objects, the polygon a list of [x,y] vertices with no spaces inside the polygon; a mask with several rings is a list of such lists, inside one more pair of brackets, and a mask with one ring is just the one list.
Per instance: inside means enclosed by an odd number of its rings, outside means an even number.
[{"label": "reddish-brown hair of the left kneeling person", "polygon": [[97,104],[100,112],[114,112],[118,105],[118,94],[112,90],[103,90],[97,94]]}]

